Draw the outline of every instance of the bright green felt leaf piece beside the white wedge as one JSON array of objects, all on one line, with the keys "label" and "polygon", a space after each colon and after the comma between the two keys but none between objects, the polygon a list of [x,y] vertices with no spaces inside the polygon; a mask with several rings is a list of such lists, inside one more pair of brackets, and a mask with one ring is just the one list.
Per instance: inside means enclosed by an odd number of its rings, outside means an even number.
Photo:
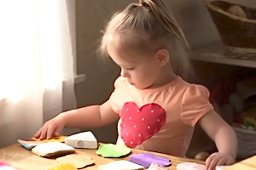
[{"label": "bright green felt leaf piece beside the white wedge", "polygon": [[96,151],[96,154],[103,157],[120,157],[130,154],[130,152],[131,149],[125,145],[102,144]]}]

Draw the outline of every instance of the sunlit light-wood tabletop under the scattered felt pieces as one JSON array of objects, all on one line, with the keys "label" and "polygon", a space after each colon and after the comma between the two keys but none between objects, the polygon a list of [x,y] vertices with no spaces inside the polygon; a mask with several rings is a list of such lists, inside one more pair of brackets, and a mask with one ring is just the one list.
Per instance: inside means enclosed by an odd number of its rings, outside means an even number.
[{"label": "sunlit light-wood tabletop under the scattered felt pieces", "polygon": [[[104,158],[102,156],[98,156],[96,154],[96,150],[91,149],[76,149],[76,152],[80,152],[81,154],[86,154],[90,156],[93,161],[95,161],[95,165],[91,167],[85,167],[86,170],[96,170],[99,165],[107,164],[111,161],[119,161],[119,160],[129,160],[129,156],[125,156],[122,158]],[[147,152],[145,150],[131,150],[131,154],[137,154]],[[204,164],[204,161],[193,160],[189,158],[182,158],[177,156],[169,156],[160,153],[154,153],[156,156],[164,156],[168,157],[172,166],[169,168],[170,170],[176,170],[176,166],[178,163],[184,161],[192,161]],[[12,144],[8,147],[0,149],[0,161],[9,162],[12,167],[15,167],[16,170],[47,170],[49,167],[55,167],[58,165],[58,162],[55,159],[48,159],[40,156],[36,156],[32,153],[31,150],[27,150],[20,144]]]}]

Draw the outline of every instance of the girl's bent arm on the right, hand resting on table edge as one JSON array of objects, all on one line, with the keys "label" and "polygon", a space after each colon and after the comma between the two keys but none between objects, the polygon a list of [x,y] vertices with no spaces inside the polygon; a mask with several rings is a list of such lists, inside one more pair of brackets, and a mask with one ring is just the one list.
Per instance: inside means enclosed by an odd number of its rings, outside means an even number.
[{"label": "girl's bent arm on the right, hand resting on table edge", "polygon": [[213,169],[217,165],[230,165],[236,160],[237,139],[236,133],[230,125],[211,110],[202,116],[199,124],[206,133],[215,141],[218,148],[217,153],[213,153],[207,158],[208,169]]}]

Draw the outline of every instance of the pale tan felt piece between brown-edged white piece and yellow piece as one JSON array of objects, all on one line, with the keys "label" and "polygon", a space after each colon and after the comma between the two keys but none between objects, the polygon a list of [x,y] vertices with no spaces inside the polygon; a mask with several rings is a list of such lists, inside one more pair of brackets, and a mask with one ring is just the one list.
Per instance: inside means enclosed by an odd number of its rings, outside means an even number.
[{"label": "pale tan felt piece between brown-edged white piece and yellow piece", "polygon": [[87,167],[94,164],[94,161],[91,160],[90,156],[71,154],[67,156],[61,156],[56,159],[60,163],[71,163],[77,168]]}]

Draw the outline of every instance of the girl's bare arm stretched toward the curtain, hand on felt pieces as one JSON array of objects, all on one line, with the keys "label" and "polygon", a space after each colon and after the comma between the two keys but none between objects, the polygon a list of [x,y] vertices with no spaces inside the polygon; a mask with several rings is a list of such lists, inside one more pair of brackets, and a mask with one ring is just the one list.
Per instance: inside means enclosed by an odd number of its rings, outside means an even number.
[{"label": "girl's bare arm stretched toward the curtain, hand on felt pieces", "polygon": [[50,139],[59,136],[63,127],[103,127],[118,119],[119,115],[112,110],[107,101],[102,105],[90,105],[77,110],[65,111],[45,122],[34,137]]}]

